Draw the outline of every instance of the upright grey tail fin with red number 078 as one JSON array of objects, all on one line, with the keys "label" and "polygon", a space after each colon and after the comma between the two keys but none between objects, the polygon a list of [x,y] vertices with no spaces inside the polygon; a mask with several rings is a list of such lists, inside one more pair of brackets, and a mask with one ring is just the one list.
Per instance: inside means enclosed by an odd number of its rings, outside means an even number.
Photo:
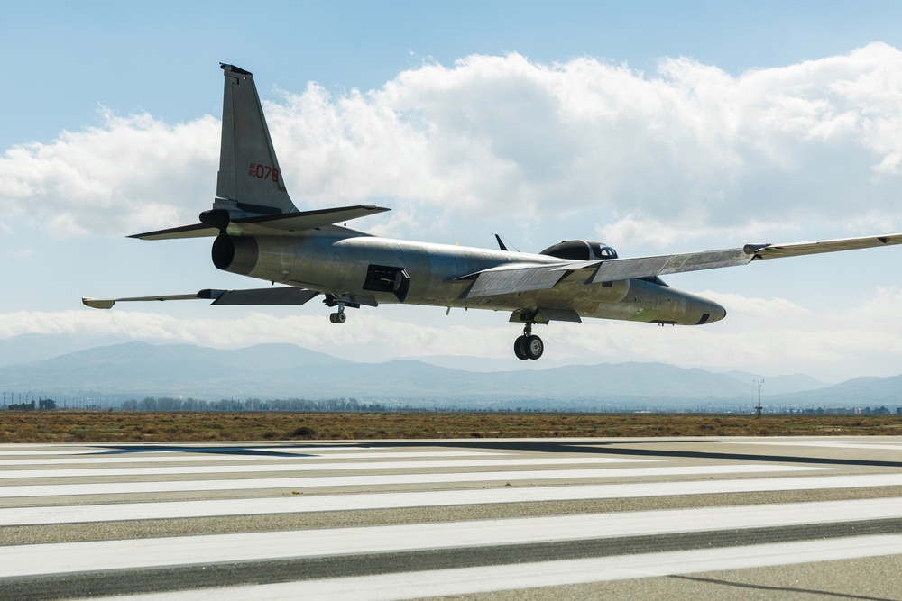
[{"label": "upright grey tail fin with red number 078", "polygon": [[226,84],[214,209],[226,209],[233,218],[296,212],[272,148],[253,75],[234,65],[220,66]]}]

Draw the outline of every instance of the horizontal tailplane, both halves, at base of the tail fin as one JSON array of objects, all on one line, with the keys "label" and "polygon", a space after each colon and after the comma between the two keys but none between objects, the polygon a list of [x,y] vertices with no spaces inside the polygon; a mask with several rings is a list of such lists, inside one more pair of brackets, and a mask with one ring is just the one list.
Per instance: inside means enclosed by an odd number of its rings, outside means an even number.
[{"label": "horizontal tailplane, both halves, at base of the tail fin", "polygon": [[[241,217],[223,225],[230,233],[244,235],[284,235],[291,232],[304,232],[318,227],[325,227],[334,223],[343,223],[371,214],[389,211],[382,206],[354,205],[340,206],[332,209],[317,209],[315,211],[298,211],[295,213],[262,215],[253,217]],[[215,211],[213,213],[216,213]],[[225,211],[223,212],[225,214]],[[208,220],[209,221],[209,220]],[[179,238],[203,238],[216,236],[219,228],[209,223],[195,223],[168,230],[156,232],[136,233],[129,238],[140,240],[176,240]]]}]

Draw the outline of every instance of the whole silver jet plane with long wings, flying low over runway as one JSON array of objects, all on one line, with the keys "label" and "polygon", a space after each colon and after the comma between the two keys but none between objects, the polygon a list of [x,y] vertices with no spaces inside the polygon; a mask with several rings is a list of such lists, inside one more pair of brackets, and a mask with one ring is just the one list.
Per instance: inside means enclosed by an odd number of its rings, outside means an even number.
[{"label": "whole silver jet plane with long wings, flying low over runway", "polygon": [[596,317],[701,325],[726,316],[721,305],[668,287],[662,275],[902,243],[902,233],[895,233],[623,259],[594,241],[563,241],[529,254],[508,251],[500,238],[500,249],[488,250],[373,236],[336,223],[388,209],[298,210],[285,188],[252,74],[221,67],[226,85],[213,208],[200,214],[200,223],[131,237],[212,237],[216,268],[285,286],[84,298],[85,305],[109,309],[118,301],[192,298],[213,305],[303,305],[323,295],[325,304],[336,308],[332,323],[345,322],[347,307],[380,303],[503,310],[512,312],[511,322],[523,324],[514,353],[535,360],[544,351],[532,333],[536,323]]}]

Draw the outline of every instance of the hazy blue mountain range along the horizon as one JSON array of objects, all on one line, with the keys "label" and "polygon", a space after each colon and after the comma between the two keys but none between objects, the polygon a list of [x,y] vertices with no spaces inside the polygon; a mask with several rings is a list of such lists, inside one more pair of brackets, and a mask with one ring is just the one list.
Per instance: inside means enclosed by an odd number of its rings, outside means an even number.
[{"label": "hazy blue mountain range along the horizon", "polygon": [[[538,366],[538,364],[537,364]],[[713,373],[661,363],[569,365],[477,372],[422,361],[355,363],[292,344],[224,351],[132,341],[0,367],[0,387],[47,396],[143,398],[357,398],[388,404],[548,408],[753,403],[745,372]],[[834,387],[805,376],[767,378],[767,401],[886,405],[898,378],[859,378]],[[808,388],[805,388],[808,387]],[[785,393],[778,395],[778,393]],[[875,400],[864,396],[873,396]]]}]

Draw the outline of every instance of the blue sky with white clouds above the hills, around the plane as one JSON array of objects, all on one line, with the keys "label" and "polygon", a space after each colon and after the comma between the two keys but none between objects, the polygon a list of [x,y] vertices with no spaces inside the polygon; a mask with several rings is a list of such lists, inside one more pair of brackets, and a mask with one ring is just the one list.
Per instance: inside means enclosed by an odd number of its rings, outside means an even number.
[{"label": "blue sky with white clouds above the hills, around the plane", "polygon": [[[366,232],[640,256],[902,231],[897,2],[0,0],[0,341],[511,358],[506,313],[81,305],[260,285],[216,270],[209,240],[125,238],[210,208],[220,61],[253,72],[295,204],[390,207],[352,224]],[[511,364],[898,375],[900,263],[887,248],[669,276],[727,318],[537,326],[545,357]]]}]

